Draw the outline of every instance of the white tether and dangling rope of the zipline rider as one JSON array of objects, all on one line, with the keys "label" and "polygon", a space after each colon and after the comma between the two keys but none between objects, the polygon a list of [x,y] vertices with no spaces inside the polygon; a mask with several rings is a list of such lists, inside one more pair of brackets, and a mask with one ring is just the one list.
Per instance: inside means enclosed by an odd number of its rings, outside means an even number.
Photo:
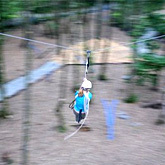
[{"label": "white tether and dangling rope of the zipline rider", "polygon": [[[90,57],[91,51],[87,50],[86,53],[87,53],[87,58],[86,58],[86,64],[85,64],[85,76],[84,76],[84,78],[86,78],[86,75],[87,75],[87,73],[88,73],[88,68],[89,68],[89,57]],[[77,95],[75,96],[75,99],[74,99],[74,100],[70,103],[70,105],[69,105],[69,107],[72,108],[72,109],[73,109],[73,107],[74,107],[74,102],[75,102],[75,100],[76,100],[76,97],[77,97]],[[84,107],[85,107],[86,116],[85,116],[83,122],[82,122],[82,123],[80,124],[80,126],[78,127],[78,129],[77,129],[76,131],[74,131],[73,133],[71,133],[70,135],[66,136],[66,137],[64,138],[64,140],[67,140],[67,139],[69,139],[70,137],[72,137],[73,135],[75,135],[75,134],[82,128],[82,126],[84,125],[84,123],[85,123],[85,121],[86,121],[86,119],[87,119],[87,117],[88,117],[88,113],[89,113],[89,101],[90,101],[89,97],[88,97],[87,95],[85,95]]]}]

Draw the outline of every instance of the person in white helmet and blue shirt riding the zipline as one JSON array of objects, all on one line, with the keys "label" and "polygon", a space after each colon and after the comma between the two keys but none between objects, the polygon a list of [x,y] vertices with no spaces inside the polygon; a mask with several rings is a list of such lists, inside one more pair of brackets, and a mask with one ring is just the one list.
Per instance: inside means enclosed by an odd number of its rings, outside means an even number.
[{"label": "person in white helmet and blue shirt riding the zipline", "polygon": [[92,99],[92,93],[89,90],[92,88],[92,83],[84,78],[84,81],[79,89],[75,92],[75,104],[73,112],[75,114],[75,120],[79,123],[85,118],[89,110],[89,102]]}]

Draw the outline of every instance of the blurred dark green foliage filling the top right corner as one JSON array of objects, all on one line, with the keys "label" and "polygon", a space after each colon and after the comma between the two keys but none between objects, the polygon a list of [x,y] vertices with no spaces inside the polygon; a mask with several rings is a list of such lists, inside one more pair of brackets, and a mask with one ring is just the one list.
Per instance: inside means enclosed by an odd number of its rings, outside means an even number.
[{"label": "blurred dark green foliage filling the top right corner", "polygon": [[[161,34],[165,34],[165,17],[155,14],[165,4],[164,0],[118,0],[118,7],[112,12],[112,25],[124,30],[135,38],[143,35],[147,27],[152,27]],[[132,23],[132,25],[131,25]],[[130,32],[131,31],[131,32]]]}]

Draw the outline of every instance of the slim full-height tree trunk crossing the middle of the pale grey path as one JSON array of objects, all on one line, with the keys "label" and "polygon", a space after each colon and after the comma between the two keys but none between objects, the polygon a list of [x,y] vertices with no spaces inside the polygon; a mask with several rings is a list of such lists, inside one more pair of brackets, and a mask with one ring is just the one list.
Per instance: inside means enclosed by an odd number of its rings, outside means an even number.
[{"label": "slim full-height tree trunk crossing the middle of the pale grey path", "polygon": [[[30,11],[30,1],[25,0],[24,4],[25,11],[25,24],[22,27],[24,30],[25,38],[32,38],[32,31],[29,26],[29,11]],[[22,164],[29,164],[29,141],[30,141],[30,111],[31,111],[31,89],[30,89],[30,71],[32,69],[32,52],[28,47],[29,41],[26,42],[27,52],[25,53],[25,96],[24,96],[24,108],[22,112]]]}]

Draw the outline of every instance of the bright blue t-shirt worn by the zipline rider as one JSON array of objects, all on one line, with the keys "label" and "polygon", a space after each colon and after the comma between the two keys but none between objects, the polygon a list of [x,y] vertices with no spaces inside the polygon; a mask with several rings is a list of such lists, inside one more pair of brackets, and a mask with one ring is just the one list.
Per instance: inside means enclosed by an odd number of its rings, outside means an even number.
[{"label": "bright blue t-shirt worn by the zipline rider", "polygon": [[[75,96],[77,96],[77,95],[78,95],[78,91],[75,93]],[[91,100],[92,99],[92,93],[88,92],[88,97]],[[82,112],[84,112],[84,98],[85,98],[85,95],[83,95],[82,97],[81,96],[76,97],[76,102],[75,102],[75,105],[74,105],[74,109],[77,112],[79,112],[81,109],[82,109]]]}]

